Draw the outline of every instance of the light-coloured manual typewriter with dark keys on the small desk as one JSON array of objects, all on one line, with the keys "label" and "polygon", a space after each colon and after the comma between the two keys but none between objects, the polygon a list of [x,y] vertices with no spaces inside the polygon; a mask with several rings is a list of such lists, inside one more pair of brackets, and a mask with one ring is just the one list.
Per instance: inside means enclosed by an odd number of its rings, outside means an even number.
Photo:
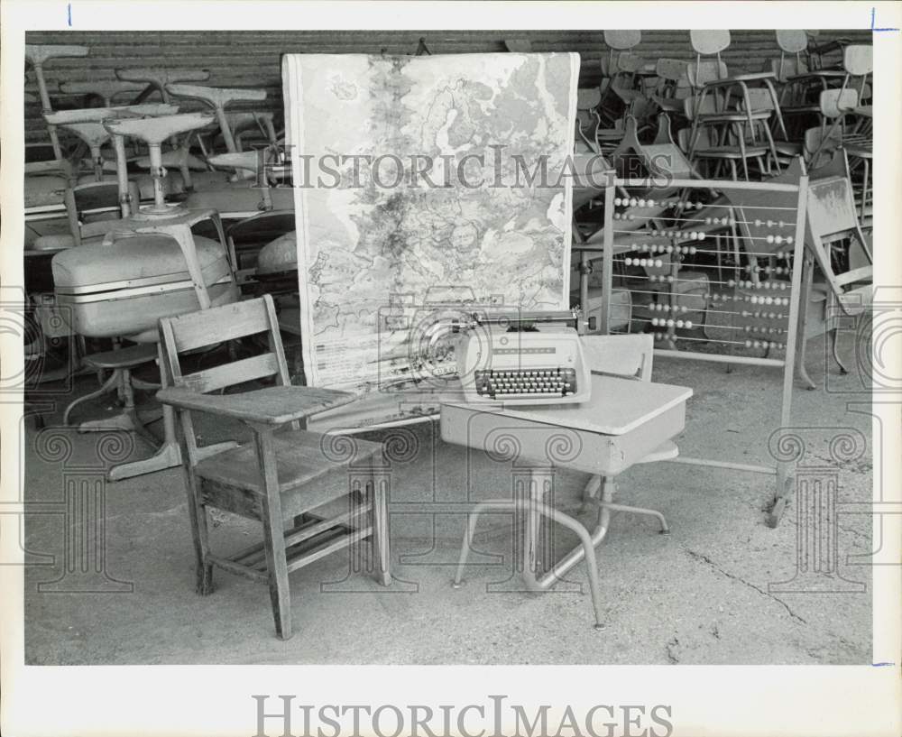
[{"label": "light-coloured manual typewriter with dark keys on the small desk", "polygon": [[572,327],[484,326],[460,336],[456,357],[466,401],[565,404],[590,397],[591,373]]}]

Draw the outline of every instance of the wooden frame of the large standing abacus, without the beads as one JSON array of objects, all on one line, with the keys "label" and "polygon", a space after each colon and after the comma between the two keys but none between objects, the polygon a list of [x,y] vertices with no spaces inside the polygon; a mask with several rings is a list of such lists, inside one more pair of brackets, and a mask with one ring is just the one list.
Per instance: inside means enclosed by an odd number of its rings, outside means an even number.
[{"label": "wooden frame of the large standing abacus, without the beads", "polygon": [[[611,293],[613,276],[613,250],[614,250],[614,197],[616,189],[664,189],[659,180],[649,179],[612,179],[609,180],[604,192],[604,238],[602,251],[602,331],[603,335],[610,333]],[[705,354],[697,351],[681,351],[669,349],[655,349],[656,356],[669,356],[695,361],[710,361],[723,364],[753,364],[783,368],[783,390],[780,403],[780,427],[786,428],[792,413],[792,390],[795,377],[796,339],[798,333],[799,299],[802,286],[802,263],[805,255],[805,211],[807,204],[808,176],[804,174],[799,183],[783,184],[770,182],[745,182],[724,180],[696,180],[676,179],[668,180],[666,189],[713,189],[722,191],[730,189],[735,191],[756,192],[780,192],[796,194],[796,235],[793,250],[793,270],[790,282],[789,317],[787,324],[787,342],[785,358],[758,358],[755,356],[717,355]],[[740,208],[740,205],[734,207]],[[786,510],[789,495],[792,492],[795,471],[791,463],[778,461],[776,465],[750,465],[728,461],[715,461],[707,458],[694,458],[678,456],[672,459],[673,463],[688,465],[705,465],[713,468],[726,468],[733,471],[743,471],[754,474],[768,474],[776,477],[776,491],[773,504],[768,513],[769,527],[777,527],[783,512]]]}]

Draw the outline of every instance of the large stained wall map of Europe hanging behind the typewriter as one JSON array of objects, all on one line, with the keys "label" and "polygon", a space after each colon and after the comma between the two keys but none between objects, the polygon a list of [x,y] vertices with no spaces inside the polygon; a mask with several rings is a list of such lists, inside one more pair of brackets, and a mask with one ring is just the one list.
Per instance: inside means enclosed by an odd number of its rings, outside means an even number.
[{"label": "large stained wall map of Europe hanging behind the typewriter", "polygon": [[308,384],[402,380],[414,327],[452,304],[567,308],[578,71],[576,54],[283,59]]}]

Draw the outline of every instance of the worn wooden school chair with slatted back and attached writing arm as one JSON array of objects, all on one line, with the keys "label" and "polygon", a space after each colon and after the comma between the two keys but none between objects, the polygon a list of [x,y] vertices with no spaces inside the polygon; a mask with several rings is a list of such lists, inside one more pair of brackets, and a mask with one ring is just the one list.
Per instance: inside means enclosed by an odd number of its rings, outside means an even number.
[{"label": "worn wooden school chair with slatted back and attached writing arm", "polygon": [[[292,634],[291,571],[369,539],[377,579],[389,585],[388,476],[382,445],[300,429],[311,415],[354,401],[354,395],[290,385],[272,297],[163,318],[160,332],[165,371],[157,397],[178,411],[183,431],[198,594],[212,592],[214,566],[268,584],[276,634],[287,640]],[[191,373],[181,363],[181,355],[201,346],[259,334],[269,339],[269,350],[262,355]],[[270,377],[274,385],[263,389],[209,393]],[[199,447],[196,412],[243,422],[253,430],[253,442],[212,452]],[[332,483],[324,483],[329,474]],[[348,502],[343,511],[318,515],[319,508],[337,500]],[[209,507],[261,522],[262,542],[228,557],[213,553],[207,537]]]}]

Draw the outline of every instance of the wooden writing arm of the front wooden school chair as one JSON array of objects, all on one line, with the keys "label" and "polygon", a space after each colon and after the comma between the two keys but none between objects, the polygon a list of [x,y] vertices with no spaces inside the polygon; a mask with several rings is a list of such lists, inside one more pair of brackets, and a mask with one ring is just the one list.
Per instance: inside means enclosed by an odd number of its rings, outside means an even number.
[{"label": "wooden writing arm of the front wooden school chair", "polygon": [[244,422],[279,426],[340,407],[354,401],[356,396],[351,392],[308,386],[272,386],[253,392],[222,395],[167,387],[157,392],[157,399],[179,410],[197,410]]}]

